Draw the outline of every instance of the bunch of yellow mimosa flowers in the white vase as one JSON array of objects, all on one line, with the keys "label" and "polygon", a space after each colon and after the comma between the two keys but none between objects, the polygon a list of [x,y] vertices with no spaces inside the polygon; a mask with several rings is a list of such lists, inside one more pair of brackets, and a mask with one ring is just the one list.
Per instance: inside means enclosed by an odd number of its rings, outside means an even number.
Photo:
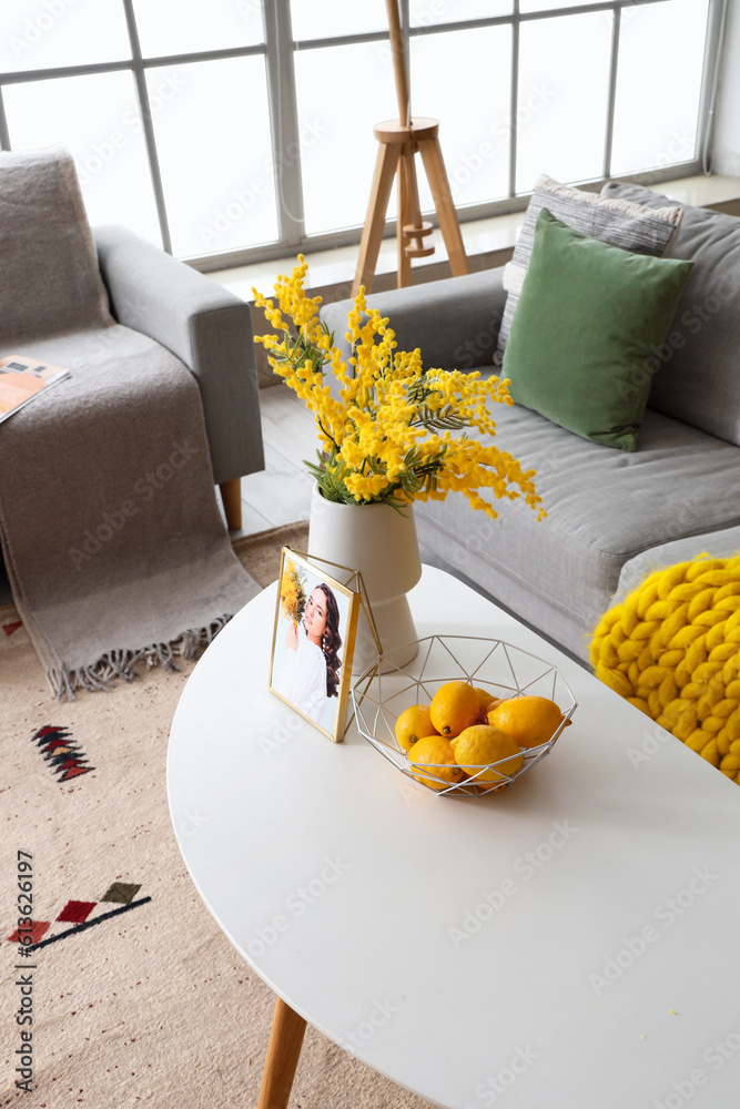
[{"label": "bunch of yellow mimosa flowers in the white vase", "polygon": [[264,345],[273,370],[314,416],[318,462],[306,466],[324,497],[403,509],[462,492],[491,519],[498,516],[491,497],[524,497],[543,519],[535,470],[523,470],[488,441],[496,435],[488,405],[513,404],[509,383],[483,379],[477,370],[425,370],[418,349],[396,350],[388,319],[367,307],[364,289],[347,316],[353,353],[344,362],[318,318],[322,298],[305,294],[306,271],[298,255],[292,275],[277,277],[277,304],[252,289],[275,332],[255,336],[255,343]]}]

